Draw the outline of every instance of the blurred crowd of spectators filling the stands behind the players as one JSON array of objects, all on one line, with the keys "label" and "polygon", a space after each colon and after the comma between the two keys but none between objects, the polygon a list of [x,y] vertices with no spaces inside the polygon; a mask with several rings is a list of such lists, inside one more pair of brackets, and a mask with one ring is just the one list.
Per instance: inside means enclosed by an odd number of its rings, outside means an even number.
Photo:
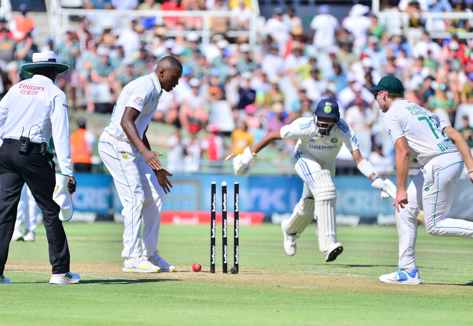
[{"label": "blurred crowd of spectators filling the stands behind the players", "polygon": [[[391,1],[392,2],[392,1]],[[388,3],[398,11],[465,11],[473,1],[420,0]],[[90,0],[85,8],[137,10],[237,10],[237,18],[212,18],[211,42],[204,46],[196,18],[135,18],[104,26],[98,16],[84,17],[60,40],[48,38],[38,49],[32,28],[23,38],[11,33],[0,18],[0,68],[5,91],[28,78],[19,68],[35,51],[54,50],[59,62],[71,69],[57,84],[70,97],[69,108],[110,114],[123,87],[149,74],[166,55],[183,64],[179,85],[163,94],[154,120],[175,126],[168,139],[168,159],[177,170],[199,170],[201,158],[222,161],[239,154],[267,132],[299,117],[312,117],[317,102],[333,98],[342,118],[355,130],[360,151],[378,172],[393,169],[393,146],[382,127],[382,112],[368,89],[385,75],[403,81],[404,98],[435,112],[461,129],[473,147],[473,53],[469,20],[442,20],[451,38],[432,39],[421,19],[410,28],[421,33],[409,44],[403,33],[389,34],[367,6],[354,5],[340,22],[327,5],[303,26],[294,9],[275,8],[259,31],[261,42],[251,46],[246,37],[228,38],[227,30],[247,30],[246,0]],[[391,9],[392,9],[391,8]],[[24,8],[26,9],[26,8]],[[27,17],[27,9],[23,18]],[[223,20],[222,20],[223,19]],[[100,27],[101,26],[101,27]],[[306,28],[304,28],[306,27]],[[186,36],[165,37],[166,31],[189,31]],[[445,86],[445,88],[444,88]],[[470,113],[471,112],[471,113]],[[294,143],[275,143],[284,159]],[[341,159],[350,159],[342,150]]]}]

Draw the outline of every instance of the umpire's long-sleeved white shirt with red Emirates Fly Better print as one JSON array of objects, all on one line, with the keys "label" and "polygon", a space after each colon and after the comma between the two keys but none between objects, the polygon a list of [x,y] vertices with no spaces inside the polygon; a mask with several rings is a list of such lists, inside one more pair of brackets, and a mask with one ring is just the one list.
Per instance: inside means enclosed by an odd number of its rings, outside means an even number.
[{"label": "umpire's long-sleeved white shirt with red Emirates Fly Better print", "polygon": [[67,98],[50,78],[35,75],[10,88],[0,101],[2,127],[2,140],[20,139],[23,134],[31,142],[49,146],[53,136],[61,172],[72,175]]}]

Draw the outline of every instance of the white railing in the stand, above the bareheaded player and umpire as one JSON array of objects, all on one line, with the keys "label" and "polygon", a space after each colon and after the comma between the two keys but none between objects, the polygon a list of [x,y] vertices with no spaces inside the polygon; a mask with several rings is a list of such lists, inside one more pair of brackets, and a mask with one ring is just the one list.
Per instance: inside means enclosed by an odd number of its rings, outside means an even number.
[{"label": "white railing in the stand, above the bareheaded player and umpire", "polygon": [[[162,20],[165,17],[194,17],[202,19],[201,30],[168,30],[164,36],[185,36],[191,32],[199,34],[202,38],[202,44],[205,46],[210,43],[210,37],[213,31],[210,28],[211,19],[215,17],[242,17],[241,13],[234,11],[211,11],[211,10],[186,10],[186,11],[162,11],[162,10],[106,10],[106,9],[66,9],[62,8],[59,0],[48,0],[47,9],[50,22],[51,34],[55,35],[56,40],[60,39],[69,25],[71,16],[79,17],[100,17],[104,25],[111,25],[115,30],[120,31],[127,28],[132,19],[137,17],[156,17]],[[246,36],[248,43],[254,45],[257,41],[257,24],[259,17],[259,6],[256,0],[253,0],[254,10],[248,13],[249,27],[247,30],[228,30],[224,34],[228,37]]]}]

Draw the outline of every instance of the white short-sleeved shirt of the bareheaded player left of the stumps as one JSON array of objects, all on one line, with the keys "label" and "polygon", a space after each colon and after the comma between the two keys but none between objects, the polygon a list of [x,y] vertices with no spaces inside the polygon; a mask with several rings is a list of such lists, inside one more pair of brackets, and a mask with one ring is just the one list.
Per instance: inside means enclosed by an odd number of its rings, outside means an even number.
[{"label": "white short-sleeved shirt of the bareheaded player left of the stumps", "polygon": [[135,120],[135,126],[143,138],[143,134],[151,121],[151,118],[156,112],[159,98],[163,90],[158,81],[158,76],[153,72],[148,76],[137,78],[125,87],[118,96],[115,104],[112,118],[105,131],[112,137],[121,141],[129,141],[120,123],[122,122],[123,112],[125,107],[130,106],[133,109],[140,111],[140,115]]}]

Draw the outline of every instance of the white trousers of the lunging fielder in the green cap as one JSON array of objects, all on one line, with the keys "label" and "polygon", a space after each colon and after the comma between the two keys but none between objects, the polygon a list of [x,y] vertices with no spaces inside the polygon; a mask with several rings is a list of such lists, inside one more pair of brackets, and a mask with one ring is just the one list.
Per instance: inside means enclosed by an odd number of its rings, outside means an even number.
[{"label": "white trousers of the lunging fielder in the green cap", "polygon": [[399,232],[399,267],[415,267],[417,214],[424,210],[425,228],[438,237],[473,238],[473,222],[448,217],[455,185],[463,171],[459,153],[432,158],[417,173],[407,188],[408,204],[396,212]]}]

